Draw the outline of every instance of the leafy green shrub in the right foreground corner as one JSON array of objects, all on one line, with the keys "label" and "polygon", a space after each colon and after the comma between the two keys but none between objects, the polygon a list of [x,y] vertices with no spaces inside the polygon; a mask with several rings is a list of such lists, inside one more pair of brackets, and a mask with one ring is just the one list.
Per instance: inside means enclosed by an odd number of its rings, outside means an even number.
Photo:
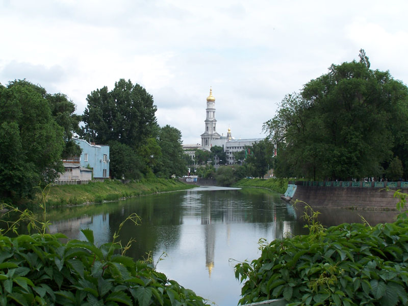
[{"label": "leafy green shrub in the right foreground corner", "polygon": [[406,305],[408,219],[341,224],[272,241],[259,259],[236,265],[241,304],[285,298],[296,305]]}]

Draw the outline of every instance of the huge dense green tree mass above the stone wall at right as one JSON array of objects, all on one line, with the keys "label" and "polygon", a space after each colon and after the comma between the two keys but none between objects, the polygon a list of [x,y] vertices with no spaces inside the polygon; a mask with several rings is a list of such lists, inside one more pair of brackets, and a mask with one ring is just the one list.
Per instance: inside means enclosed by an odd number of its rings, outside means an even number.
[{"label": "huge dense green tree mass above the stone wall at right", "polygon": [[287,95],[264,129],[277,147],[279,177],[378,177],[396,156],[408,173],[408,89],[370,69],[364,50],[359,62],[333,64]]}]

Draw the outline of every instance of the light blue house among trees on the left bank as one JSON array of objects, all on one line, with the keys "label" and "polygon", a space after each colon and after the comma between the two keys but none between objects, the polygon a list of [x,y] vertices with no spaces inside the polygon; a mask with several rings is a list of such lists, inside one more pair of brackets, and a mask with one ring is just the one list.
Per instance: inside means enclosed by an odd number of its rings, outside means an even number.
[{"label": "light blue house among trees on the left bank", "polygon": [[109,145],[89,143],[83,139],[75,139],[75,142],[82,149],[81,166],[92,168],[94,179],[108,179],[110,162]]}]

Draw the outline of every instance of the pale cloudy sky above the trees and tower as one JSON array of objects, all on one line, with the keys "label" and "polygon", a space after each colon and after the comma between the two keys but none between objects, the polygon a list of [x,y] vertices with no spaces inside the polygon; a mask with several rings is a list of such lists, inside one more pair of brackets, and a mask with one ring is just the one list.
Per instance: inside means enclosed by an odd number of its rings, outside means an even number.
[{"label": "pale cloudy sky above the trees and tower", "polygon": [[0,83],[87,95],[120,79],[154,97],[160,126],[200,142],[210,87],[217,131],[264,137],[286,94],[359,60],[408,82],[408,2],[0,0]]}]

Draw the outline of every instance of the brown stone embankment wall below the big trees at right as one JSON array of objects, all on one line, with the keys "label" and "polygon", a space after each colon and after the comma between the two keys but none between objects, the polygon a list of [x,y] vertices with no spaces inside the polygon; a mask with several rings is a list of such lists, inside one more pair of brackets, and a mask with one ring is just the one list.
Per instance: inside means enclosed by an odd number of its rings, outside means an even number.
[{"label": "brown stone embankment wall below the big trees at right", "polygon": [[[393,191],[384,188],[303,186],[298,184],[291,202],[301,200],[314,207],[354,209],[396,209]],[[394,190],[396,188],[393,188]],[[408,192],[402,189],[402,192]]]}]

